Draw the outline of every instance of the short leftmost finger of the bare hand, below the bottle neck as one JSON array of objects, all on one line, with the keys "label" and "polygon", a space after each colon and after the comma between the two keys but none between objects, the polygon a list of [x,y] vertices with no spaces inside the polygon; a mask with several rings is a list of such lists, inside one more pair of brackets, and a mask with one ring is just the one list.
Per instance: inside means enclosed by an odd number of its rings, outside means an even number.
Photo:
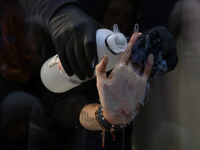
[{"label": "short leftmost finger of the bare hand, below the bottle neck", "polygon": [[102,60],[95,67],[97,82],[100,82],[102,80],[106,80],[107,79],[107,75],[106,75],[106,66],[107,66],[107,64],[108,64],[108,56],[104,55]]}]

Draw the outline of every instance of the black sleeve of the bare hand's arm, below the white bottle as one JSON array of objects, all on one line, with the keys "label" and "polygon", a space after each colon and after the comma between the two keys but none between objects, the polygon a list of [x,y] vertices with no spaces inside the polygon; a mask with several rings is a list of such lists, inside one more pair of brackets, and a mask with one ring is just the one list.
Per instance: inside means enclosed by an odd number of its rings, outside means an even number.
[{"label": "black sleeve of the bare hand's arm, below the white bottle", "polygon": [[86,104],[91,103],[74,90],[61,94],[46,90],[44,95],[43,104],[47,112],[59,124],[68,128],[80,126],[79,114]]}]

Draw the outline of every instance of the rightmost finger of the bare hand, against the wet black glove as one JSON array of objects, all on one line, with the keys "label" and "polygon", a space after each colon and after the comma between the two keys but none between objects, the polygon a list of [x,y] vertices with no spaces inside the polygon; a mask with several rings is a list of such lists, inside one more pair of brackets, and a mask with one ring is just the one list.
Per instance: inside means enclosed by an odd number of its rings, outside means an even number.
[{"label": "rightmost finger of the bare hand, against the wet black glove", "polygon": [[148,56],[146,67],[145,67],[143,75],[142,75],[142,78],[144,80],[147,80],[149,78],[149,75],[151,74],[152,67],[153,67],[153,54],[150,54]]}]

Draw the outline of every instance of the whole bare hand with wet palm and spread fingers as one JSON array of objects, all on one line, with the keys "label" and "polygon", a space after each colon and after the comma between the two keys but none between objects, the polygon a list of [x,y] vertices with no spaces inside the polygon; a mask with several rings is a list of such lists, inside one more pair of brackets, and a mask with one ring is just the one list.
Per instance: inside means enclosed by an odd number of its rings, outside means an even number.
[{"label": "whole bare hand with wet palm and spread fingers", "polygon": [[109,77],[106,75],[108,63],[106,55],[96,66],[97,88],[103,115],[111,124],[129,123],[138,113],[145,96],[147,80],[153,66],[153,55],[149,55],[142,75],[142,67],[130,62],[133,44],[140,35],[140,33],[132,35],[126,51],[121,54]]}]

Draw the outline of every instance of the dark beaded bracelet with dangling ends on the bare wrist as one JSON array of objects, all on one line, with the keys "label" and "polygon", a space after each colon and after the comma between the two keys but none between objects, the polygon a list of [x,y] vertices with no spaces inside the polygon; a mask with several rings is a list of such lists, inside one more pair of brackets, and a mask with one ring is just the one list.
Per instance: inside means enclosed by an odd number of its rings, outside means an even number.
[{"label": "dark beaded bracelet with dangling ends on the bare wrist", "polygon": [[102,130],[102,147],[105,147],[105,131],[110,132],[113,136],[113,141],[115,141],[115,131],[121,130],[124,126],[130,125],[113,125],[110,124],[103,116],[103,108],[101,106],[98,107],[98,110],[95,112],[95,119],[99,123],[99,125],[103,128]]}]

